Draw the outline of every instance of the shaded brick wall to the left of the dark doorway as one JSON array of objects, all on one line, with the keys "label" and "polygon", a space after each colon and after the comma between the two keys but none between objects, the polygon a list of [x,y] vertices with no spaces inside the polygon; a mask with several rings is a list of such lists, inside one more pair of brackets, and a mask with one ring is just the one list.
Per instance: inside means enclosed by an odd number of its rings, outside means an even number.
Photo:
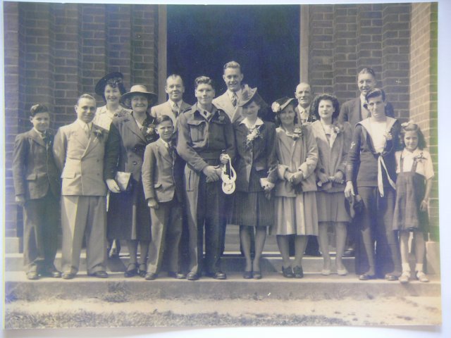
[{"label": "shaded brick wall to the left of the dark doorway", "polygon": [[[20,235],[11,173],[13,141],[28,130],[37,102],[54,111],[51,127],[75,120],[82,93],[100,77],[121,71],[157,91],[158,6],[4,3],[6,107],[6,235]],[[97,103],[103,105],[101,97]]]}]

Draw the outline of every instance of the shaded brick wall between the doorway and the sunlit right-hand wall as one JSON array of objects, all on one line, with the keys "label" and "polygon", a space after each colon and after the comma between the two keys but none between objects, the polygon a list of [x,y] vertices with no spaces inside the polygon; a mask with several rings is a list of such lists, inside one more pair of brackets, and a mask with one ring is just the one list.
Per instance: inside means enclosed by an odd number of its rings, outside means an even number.
[{"label": "shaded brick wall between the doorway and the sunlit right-hand wall", "polygon": [[[409,4],[309,6],[309,81],[340,103],[358,95],[357,73],[376,71],[398,117],[408,115]],[[394,13],[390,13],[393,8]],[[392,30],[395,29],[395,32]],[[393,47],[395,45],[396,50]]]}]

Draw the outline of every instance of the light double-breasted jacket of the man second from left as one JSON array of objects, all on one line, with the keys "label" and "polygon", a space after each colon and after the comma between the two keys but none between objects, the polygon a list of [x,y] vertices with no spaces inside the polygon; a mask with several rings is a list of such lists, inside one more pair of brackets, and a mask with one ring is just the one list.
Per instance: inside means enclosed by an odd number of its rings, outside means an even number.
[{"label": "light double-breasted jacket of the man second from left", "polygon": [[108,130],[94,124],[89,136],[77,121],[59,128],[54,139],[54,158],[62,171],[62,195],[106,195],[103,158],[107,137]]}]

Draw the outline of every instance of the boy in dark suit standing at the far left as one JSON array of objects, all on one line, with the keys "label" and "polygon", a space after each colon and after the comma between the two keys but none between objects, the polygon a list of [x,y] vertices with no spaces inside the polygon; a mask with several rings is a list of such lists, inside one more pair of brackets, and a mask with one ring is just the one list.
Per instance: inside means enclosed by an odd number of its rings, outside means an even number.
[{"label": "boy in dark suit standing at the far left", "polygon": [[18,134],[14,144],[13,180],[16,203],[23,206],[23,258],[29,280],[39,275],[61,277],[54,259],[58,238],[58,199],[61,190],[51,144],[49,108],[30,109],[32,129]]}]

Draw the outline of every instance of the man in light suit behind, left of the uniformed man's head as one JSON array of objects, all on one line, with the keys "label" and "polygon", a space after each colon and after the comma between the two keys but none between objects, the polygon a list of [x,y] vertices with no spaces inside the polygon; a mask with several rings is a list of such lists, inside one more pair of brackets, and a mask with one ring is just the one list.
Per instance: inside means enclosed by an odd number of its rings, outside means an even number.
[{"label": "man in light suit behind, left of the uniformed man's head", "polygon": [[[169,75],[166,79],[166,86],[164,87],[166,94],[168,94],[168,101],[158,106],[154,106],[150,110],[150,115],[158,118],[161,115],[168,115],[171,117],[174,127],[177,125],[178,115],[190,108],[190,104],[183,101],[183,93],[185,93],[185,86],[180,75]],[[175,130],[174,130],[175,131]]]}]

